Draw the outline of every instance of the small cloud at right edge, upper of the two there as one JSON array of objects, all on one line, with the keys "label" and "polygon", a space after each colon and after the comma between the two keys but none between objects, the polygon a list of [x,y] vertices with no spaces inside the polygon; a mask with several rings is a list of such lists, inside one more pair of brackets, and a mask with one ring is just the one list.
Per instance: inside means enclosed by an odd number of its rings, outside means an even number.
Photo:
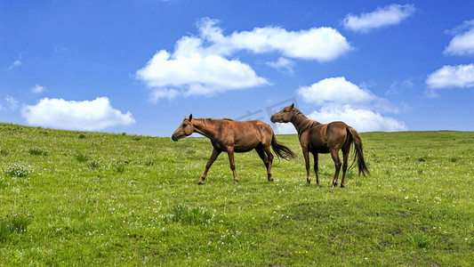
[{"label": "small cloud at right edge, upper of the two there", "polygon": [[452,55],[474,54],[474,20],[465,21],[461,26],[447,31],[454,34],[443,53]]}]

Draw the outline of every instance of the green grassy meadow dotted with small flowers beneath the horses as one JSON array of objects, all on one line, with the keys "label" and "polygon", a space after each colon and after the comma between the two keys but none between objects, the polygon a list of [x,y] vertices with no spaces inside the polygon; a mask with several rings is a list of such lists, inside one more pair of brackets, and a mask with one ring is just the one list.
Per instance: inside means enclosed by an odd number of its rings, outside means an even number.
[{"label": "green grassy meadow dotted with small flowers beneath the horses", "polygon": [[[361,134],[372,176],[299,155],[0,124],[0,265],[474,265],[474,133]],[[313,181],[314,174],[313,174]]]}]

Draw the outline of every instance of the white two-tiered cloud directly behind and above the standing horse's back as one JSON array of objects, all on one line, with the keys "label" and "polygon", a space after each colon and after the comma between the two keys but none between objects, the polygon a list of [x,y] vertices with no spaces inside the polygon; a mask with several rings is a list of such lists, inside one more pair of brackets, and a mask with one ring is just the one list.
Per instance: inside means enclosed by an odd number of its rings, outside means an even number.
[{"label": "white two-tiered cloud directly behind and above the standing horse's back", "polygon": [[388,101],[366,89],[359,88],[344,77],[326,78],[311,86],[303,86],[296,93],[307,103],[320,106],[309,118],[321,123],[344,121],[359,132],[403,131],[406,125],[393,117],[382,116]]}]

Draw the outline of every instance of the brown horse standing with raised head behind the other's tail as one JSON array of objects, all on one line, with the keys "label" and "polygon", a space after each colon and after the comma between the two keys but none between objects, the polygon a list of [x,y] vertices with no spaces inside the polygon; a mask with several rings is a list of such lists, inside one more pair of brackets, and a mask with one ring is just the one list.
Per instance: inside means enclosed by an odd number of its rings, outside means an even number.
[{"label": "brown horse standing with raised head behind the other's tail", "polygon": [[[280,112],[273,114],[270,118],[273,123],[293,123],[301,143],[301,149],[306,163],[307,182],[311,182],[309,176],[309,152],[314,156],[314,170],[316,172],[316,182],[319,184],[319,177],[317,175],[317,154],[331,153],[336,172],[333,179],[333,187],[337,186],[337,179],[341,171],[341,158],[339,158],[339,150],[342,150],[342,181],[341,187],[345,185],[346,171],[348,167],[348,158],[350,145],[354,143],[355,155],[354,164],[358,163],[358,174],[361,173],[366,176],[369,170],[366,167],[364,160],[364,153],[362,151],[362,141],[358,132],[349,125],[341,121],[332,122],[327,125],[322,125],[315,120],[311,120],[304,116],[300,110],[294,108],[294,104],[281,109]],[[351,166],[351,167],[352,167]]]}]

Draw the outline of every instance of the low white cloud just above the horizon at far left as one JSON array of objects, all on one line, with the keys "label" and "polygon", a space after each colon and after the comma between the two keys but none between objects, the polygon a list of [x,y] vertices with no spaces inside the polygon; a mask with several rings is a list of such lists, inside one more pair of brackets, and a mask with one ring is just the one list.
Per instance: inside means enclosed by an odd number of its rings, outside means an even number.
[{"label": "low white cloud just above the horizon at far left", "polygon": [[21,116],[28,125],[68,130],[97,131],[110,126],[135,123],[132,113],[113,109],[107,97],[93,101],[65,101],[44,98],[34,106],[25,105]]}]

